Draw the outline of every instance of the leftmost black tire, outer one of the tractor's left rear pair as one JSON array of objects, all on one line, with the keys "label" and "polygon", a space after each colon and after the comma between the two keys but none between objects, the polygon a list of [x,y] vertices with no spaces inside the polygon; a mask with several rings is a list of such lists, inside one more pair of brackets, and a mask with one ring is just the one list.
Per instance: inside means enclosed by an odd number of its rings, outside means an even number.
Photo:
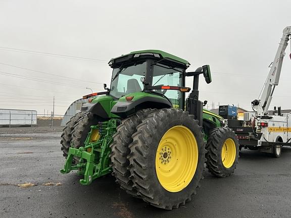
[{"label": "leftmost black tire, outer one of the tractor's left rear pair", "polygon": [[61,135],[61,150],[63,151],[63,156],[67,157],[69,152],[69,147],[71,147],[72,131],[78,120],[84,115],[84,112],[79,112],[75,116],[71,117],[69,122],[66,123],[63,133]]}]

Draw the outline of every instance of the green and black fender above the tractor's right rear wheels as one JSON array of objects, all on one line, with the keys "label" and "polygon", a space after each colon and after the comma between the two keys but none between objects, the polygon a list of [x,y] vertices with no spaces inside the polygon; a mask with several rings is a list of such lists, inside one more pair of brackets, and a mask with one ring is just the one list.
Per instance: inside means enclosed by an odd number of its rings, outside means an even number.
[{"label": "green and black fender above the tractor's right rear wheels", "polygon": [[147,92],[134,92],[121,97],[112,107],[111,113],[119,117],[127,117],[145,108],[160,109],[172,106],[172,103],[162,96]]}]

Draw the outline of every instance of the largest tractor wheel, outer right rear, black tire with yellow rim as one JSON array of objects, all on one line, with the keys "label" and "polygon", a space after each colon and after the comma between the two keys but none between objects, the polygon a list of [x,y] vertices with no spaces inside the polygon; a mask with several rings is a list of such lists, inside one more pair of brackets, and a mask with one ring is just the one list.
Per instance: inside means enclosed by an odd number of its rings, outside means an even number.
[{"label": "largest tractor wheel, outer right rear, black tire with yellow rim", "polygon": [[140,198],[164,209],[191,200],[206,160],[201,129],[188,112],[174,108],[157,110],[137,126],[127,157]]}]

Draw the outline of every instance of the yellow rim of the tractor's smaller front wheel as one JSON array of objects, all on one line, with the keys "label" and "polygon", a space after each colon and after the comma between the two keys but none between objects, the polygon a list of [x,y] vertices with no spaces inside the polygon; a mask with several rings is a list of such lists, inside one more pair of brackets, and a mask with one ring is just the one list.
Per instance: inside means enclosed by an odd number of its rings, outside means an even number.
[{"label": "yellow rim of the tractor's smaller front wheel", "polygon": [[228,138],[224,141],[221,150],[221,160],[225,168],[231,168],[236,155],[235,143],[232,139]]}]

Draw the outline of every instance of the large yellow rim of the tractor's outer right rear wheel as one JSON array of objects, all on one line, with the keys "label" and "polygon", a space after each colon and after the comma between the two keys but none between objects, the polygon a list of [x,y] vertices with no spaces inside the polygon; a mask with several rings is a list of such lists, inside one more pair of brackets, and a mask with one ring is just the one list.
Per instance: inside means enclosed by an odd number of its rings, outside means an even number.
[{"label": "large yellow rim of the tractor's outer right rear wheel", "polygon": [[174,126],[162,137],[156,153],[156,173],[169,192],[179,192],[191,182],[198,164],[198,145],[187,127]]}]

